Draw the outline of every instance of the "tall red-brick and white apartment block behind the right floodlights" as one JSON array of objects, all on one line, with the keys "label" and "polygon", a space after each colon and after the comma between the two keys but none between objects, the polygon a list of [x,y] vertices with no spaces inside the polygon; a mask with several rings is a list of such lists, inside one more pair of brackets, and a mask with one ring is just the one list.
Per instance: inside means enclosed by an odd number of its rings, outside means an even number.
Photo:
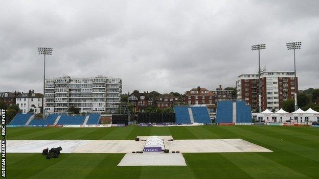
[{"label": "tall red-brick and white apartment block behind the right floodlights", "polygon": [[[245,99],[246,104],[252,106],[253,112],[259,108],[258,79],[258,73],[246,73],[239,75],[236,81],[237,99]],[[294,93],[298,91],[298,78],[294,79],[294,72],[291,71],[262,71],[260,84],[262,111],[278,111],[283,101],[293,99]]]}]

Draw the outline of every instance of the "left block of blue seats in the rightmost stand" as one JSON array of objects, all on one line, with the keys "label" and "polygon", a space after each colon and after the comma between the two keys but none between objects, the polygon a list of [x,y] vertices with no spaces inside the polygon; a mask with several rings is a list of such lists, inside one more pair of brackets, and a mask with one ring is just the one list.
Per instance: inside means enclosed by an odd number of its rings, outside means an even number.
[{"label": "left block of blue seats in the rightmost stand", "polygon": [[218,101],[216,123],[233,122],[233,101]]}]

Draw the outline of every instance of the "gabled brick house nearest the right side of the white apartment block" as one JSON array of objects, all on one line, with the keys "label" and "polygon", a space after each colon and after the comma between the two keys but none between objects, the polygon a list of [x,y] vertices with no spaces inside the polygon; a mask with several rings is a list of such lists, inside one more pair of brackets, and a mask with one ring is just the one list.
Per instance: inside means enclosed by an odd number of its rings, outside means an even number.
[{"label": "gabled brick house nearest the right side of the white apartment block", "polygon": [[133,107],[134,112],[145,112],[145,109],[153,104],[152,99],[148,98],[148,93],[133,92],[128,94],[128,103]]}]

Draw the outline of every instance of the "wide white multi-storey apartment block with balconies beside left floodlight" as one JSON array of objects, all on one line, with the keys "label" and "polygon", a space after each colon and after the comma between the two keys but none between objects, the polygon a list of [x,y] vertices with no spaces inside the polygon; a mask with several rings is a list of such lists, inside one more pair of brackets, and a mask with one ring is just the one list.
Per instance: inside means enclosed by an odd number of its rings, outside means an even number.
[{"label": "wide white multi-storey apartment block with balconies beside left floodlight", "polygon": [[44,109],[47,114],[66,113],[71,106],[80,112],[115,112],[121,102],[122,80],[102,75],[88,78],[45,80]]}]

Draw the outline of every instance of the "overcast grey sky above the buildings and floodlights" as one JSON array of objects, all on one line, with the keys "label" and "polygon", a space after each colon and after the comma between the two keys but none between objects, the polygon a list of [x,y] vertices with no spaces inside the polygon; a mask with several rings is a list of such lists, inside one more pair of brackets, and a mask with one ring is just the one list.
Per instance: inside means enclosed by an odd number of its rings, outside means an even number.
[{"label": "overcast grey sky above the buildings and floodlights", "polygon": [[122,78],[123,92],[184,93],[236,86],[261,66],[293,71],[299,89],[319,88],[319,1],[2,1],[0,91],[43,90],[48,78]]}]

